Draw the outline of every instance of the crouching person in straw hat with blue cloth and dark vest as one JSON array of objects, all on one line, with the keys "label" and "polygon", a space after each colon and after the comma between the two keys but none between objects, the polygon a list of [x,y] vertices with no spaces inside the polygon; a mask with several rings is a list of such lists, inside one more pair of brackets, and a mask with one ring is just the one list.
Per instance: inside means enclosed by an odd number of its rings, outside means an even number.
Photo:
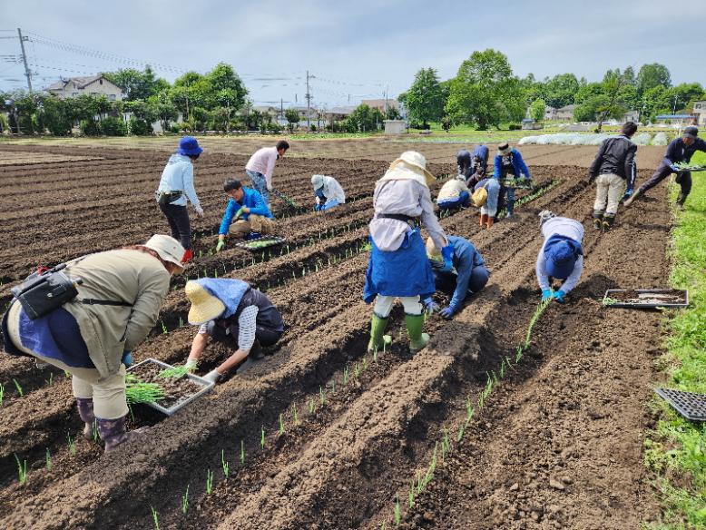
[{"label": "crouching person in straw hat with blue cloth and dark vest", "polygon": [[201,278],[187,281],[186,297],[191,302],[189,323],[200,326],[191,343],[186,367],[197,367],[208,338],[235,352],[204,378],[218,383],[245,358],[263,357],[262,347],[277,343],[284,333],[279,311],[259,290],[242,280]]}]

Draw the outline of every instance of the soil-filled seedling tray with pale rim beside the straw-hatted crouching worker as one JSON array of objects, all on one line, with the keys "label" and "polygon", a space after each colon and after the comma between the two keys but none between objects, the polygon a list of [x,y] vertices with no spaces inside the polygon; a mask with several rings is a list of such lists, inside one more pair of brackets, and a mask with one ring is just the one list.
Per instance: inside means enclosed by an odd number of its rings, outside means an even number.
[{"label": "soil-filled seedling tray with pale rim beside the straw-hatted crouching worker", "polygon": [[147,358],[128,368],[127,372],[143,383],[159,385],[164,397],[152,403],[145,403],[167,416],[172,416],[181,407],[198,399],[213,388],[213,383],[193,374],[182,374],[180,377],[164,377],[164,370],[174,369],[172,365],[154,358]]}]

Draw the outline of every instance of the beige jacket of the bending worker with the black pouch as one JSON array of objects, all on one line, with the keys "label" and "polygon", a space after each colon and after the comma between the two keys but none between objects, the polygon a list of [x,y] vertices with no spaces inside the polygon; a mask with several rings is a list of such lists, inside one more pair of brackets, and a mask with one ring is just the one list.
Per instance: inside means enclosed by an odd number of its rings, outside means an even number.
[{"label": "beige jacket of the bending worker with the black pouch", "polygon": [[[67,271],[83,284],[64,309],[78,322],[101,377],[110,377],[120,369],[123,349],[132,351],[154,327],[169,292],[170,274],[159,260],[140,250],[90,254],[70,263]],[[78,299],[123,301],[132,307],[89,305]]]}]

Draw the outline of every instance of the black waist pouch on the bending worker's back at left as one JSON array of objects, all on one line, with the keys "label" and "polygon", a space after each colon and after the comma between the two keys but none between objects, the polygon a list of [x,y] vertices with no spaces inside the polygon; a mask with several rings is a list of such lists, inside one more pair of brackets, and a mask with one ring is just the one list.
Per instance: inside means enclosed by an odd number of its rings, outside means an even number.
[{"label": "black waist pouch on the bending worker's back at left", "polygon": [[69,278],[65,267],[62,263],[54,269],[37,271],[10,290],[30,319],[44,317],[78,296],[76,285],[82,281]]}]

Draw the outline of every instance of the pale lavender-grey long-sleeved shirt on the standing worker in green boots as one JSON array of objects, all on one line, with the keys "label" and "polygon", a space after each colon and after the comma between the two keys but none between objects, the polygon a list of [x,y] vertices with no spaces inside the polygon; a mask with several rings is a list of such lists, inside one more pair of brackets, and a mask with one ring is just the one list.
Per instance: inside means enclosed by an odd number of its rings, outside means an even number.
[{"label": "pale lavender-grey long-sleeved shirt on the standing worker in green boots", "polygon": [[398,213],[409,217],[421,217],[429,237],[436,247],[446,245],[446,234],[434,214],[429,189],[424,184],[412,179],[380,180],[373,195],[375,216],[370,221],[370,235],[378,249],[397,250],[409,231],[409,224],[396,219],[379,219],[384,213]]}]

